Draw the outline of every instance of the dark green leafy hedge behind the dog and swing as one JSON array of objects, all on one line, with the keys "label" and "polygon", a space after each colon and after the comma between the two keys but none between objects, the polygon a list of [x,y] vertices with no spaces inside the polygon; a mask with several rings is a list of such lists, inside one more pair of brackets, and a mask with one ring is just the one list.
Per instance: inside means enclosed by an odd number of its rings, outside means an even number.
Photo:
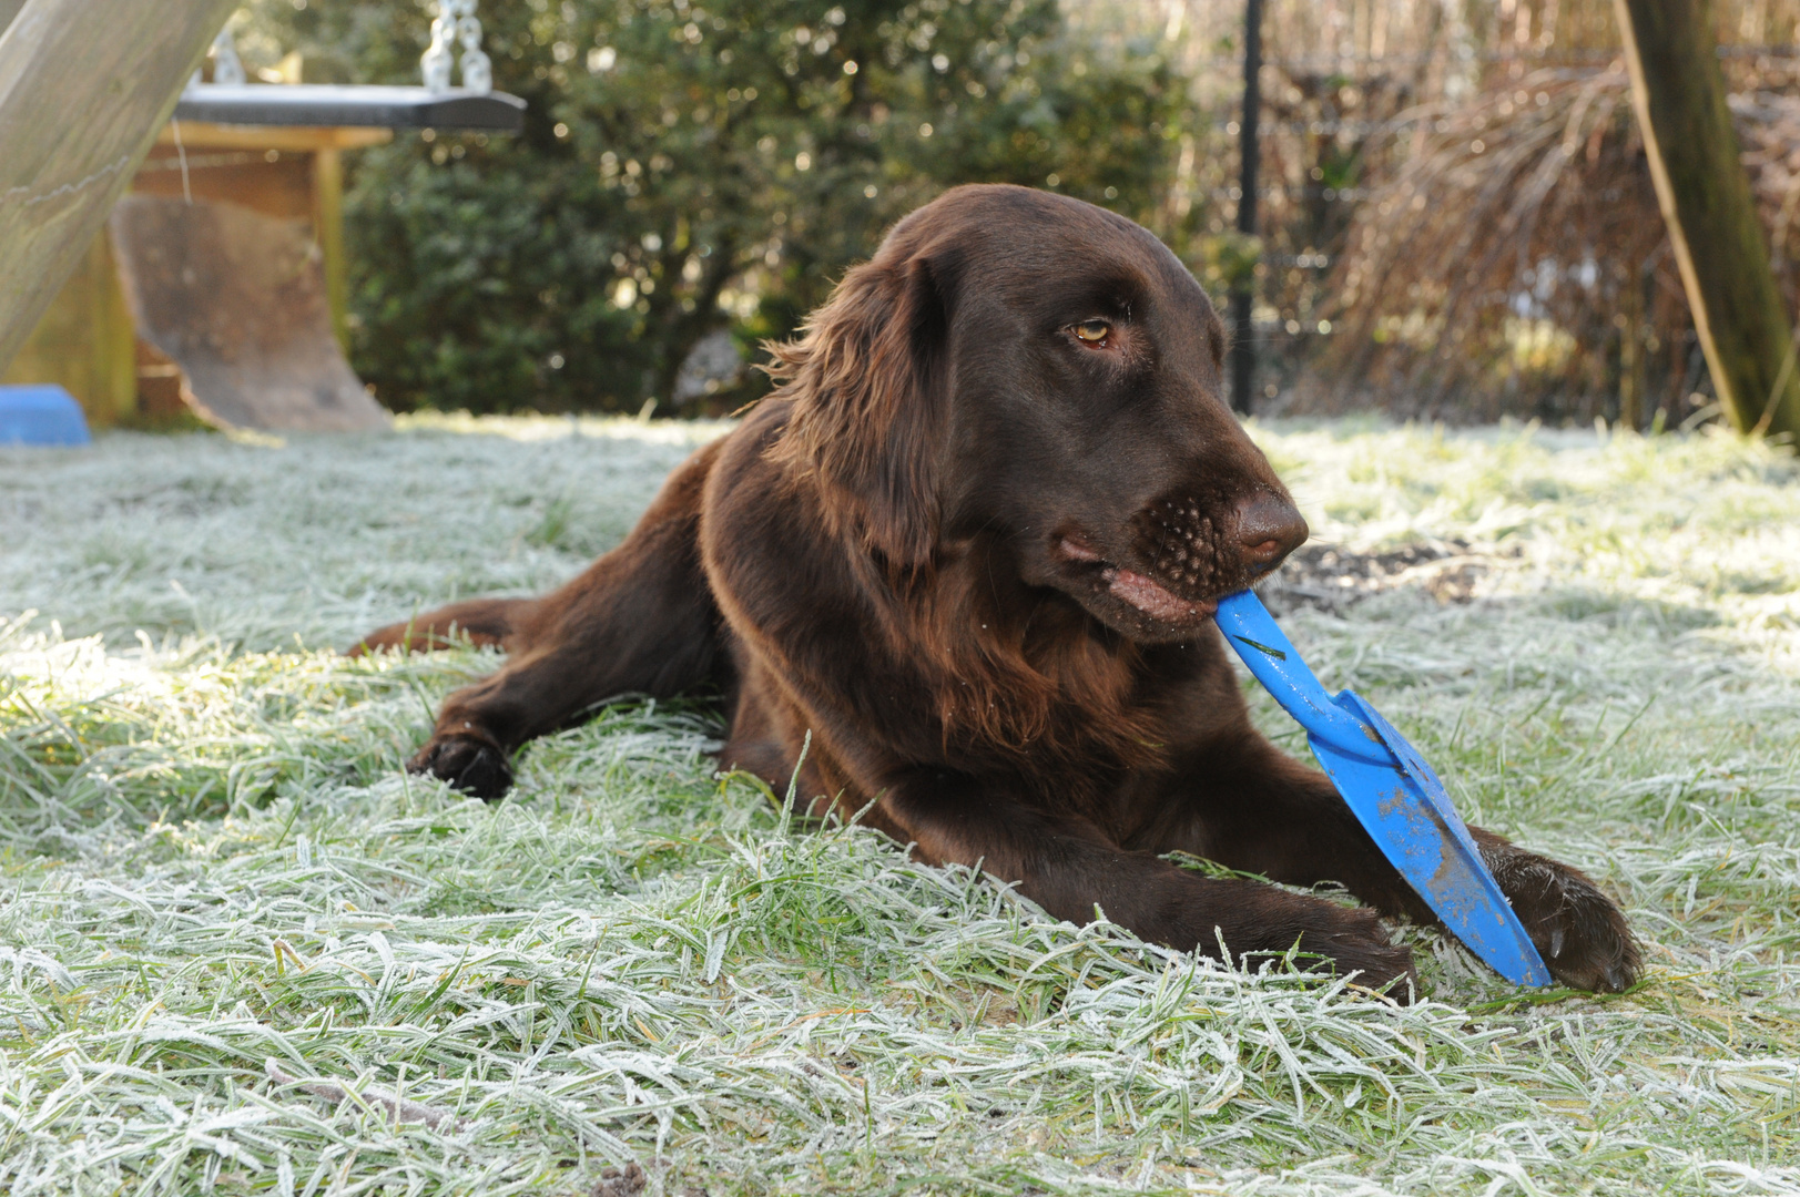
[{"label": "dark green leafy hedge behind the dog and swing", "polygon": [[[301,49],[313,81],[407,83],[432,7],[261,0],[239,40],[252,67]],[[1159,225],[1188,119],[1156,45],[1084,43],[1055,0],[531,0],[481,18],[526,131],[401,135],[353,164],[353,362],[394,409],[668,410],[700,337],[729,328],[747,355],[785,337],[949,185],[1053,187]]]}]

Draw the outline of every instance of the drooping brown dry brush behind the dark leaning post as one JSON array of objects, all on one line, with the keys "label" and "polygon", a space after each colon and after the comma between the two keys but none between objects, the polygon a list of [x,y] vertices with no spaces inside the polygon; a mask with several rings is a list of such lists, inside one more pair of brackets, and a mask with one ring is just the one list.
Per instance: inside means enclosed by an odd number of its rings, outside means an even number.
[{"label": "drooping brown dry brush behind the dark leaning post", "polygon": [[[1789,70],[1791,76],[1791,70]],[[1782,77],[1751,79],[1791,90]],[[1777,279],[1800,299],[1800,99],[1730,97]],[[1679,425],[1710,398],[1620,61],[1498,77],[1390,122],[1345,236],[1337,335],[1298,407]],[[1330,383],[1318,383],[1330,378]]]}]

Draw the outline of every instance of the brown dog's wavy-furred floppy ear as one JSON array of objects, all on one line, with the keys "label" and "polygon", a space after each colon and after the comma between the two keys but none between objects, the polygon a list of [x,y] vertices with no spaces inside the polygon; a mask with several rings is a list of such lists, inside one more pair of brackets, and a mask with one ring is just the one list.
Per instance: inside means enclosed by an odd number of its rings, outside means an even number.
[{"label": "brown dog's wavy-furred floppy ear", "polygon": [[938,540],[949,374],[945,263],[880,256],[853,268],[801,337],[770,346],[792,401],[770,455],[814,473],[842,531],[889,567],[918,569]]}]

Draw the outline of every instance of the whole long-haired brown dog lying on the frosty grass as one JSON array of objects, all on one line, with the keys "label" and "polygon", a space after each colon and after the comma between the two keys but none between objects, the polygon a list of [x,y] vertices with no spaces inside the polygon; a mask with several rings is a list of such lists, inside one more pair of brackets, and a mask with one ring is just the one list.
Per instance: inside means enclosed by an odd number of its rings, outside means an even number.
[{"label": "whole long-haired brown dog lying on the frosty grass", "polygon": [[[900,221],[781,383],[664,484],[617,549],[540,599],[455,603],[364,643],[454,630],[511,657],[454,693],[410,769],[482,797],[508,756],[623,693],[715,682],[722,763],[932,862],[1096,907],[1147,940],[1292,947],[1372,985],[1411,976],[1375,914],[1161,853],[1429,911],[1323,774],[1246,713],[1213,601],[1307,526],[1220,403],[1224,328],[1156,238],[1022,187]],[[1579,871],[1472,830],[1568,985],[1638,952]]]}]

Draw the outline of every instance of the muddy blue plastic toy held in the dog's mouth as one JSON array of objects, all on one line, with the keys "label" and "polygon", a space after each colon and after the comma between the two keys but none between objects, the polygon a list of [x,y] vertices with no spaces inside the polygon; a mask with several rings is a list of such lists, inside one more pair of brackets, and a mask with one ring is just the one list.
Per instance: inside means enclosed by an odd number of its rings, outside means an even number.
[{"label": "muddy blue plastic toy held in the dog's mouth", "polygon": [[1550,985],[1444,783],[1406,736],[1352,691],[1328,695],[1249,590],[1220,599],[1215,619],[1256,680],[1307,729],[1332,785],[1444,925],[1514,985]]}]

